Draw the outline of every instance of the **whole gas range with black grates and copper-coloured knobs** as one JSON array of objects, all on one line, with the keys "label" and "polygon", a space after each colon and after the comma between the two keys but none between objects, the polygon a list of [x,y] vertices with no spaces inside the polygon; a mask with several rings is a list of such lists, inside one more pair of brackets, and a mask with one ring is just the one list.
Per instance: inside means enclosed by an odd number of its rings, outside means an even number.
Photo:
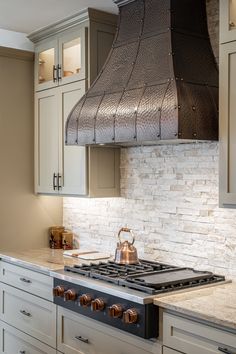
[{"label": "whole gas range with black grates and copper-coloured knobs", "polygon": [[156,295],[224,280],[211,272],[146,260],[135,265],[80,264],[56,273],[54,302],[136,336],[157,338]]}]

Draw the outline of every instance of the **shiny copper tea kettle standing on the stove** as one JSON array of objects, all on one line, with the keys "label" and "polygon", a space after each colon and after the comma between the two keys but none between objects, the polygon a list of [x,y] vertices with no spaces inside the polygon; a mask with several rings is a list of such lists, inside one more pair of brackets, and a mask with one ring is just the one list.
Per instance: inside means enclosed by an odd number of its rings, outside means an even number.
[{"label": "shiny copper tea kettle standing on the stove", "polygon": [[[121,242],[121,233],[129,232],[132,236],[132,242],[123,241]],[[136,264],[139,263],[138,254],[136,248],[133,246],[135,237],[133,231],[127,227],[122,227],[118,233],[119,242],[117,243],[117,248],[115,252],[115,263],[118,264]]]}]

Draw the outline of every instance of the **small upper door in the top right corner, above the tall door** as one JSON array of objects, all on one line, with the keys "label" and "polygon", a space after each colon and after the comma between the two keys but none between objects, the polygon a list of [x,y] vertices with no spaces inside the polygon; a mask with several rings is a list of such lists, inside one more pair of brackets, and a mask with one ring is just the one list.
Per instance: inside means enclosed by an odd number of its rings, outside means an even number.
[{"label": "small upper door in the top right corner, above the tall door", "polygon": [[236,0],[220,0],[220,43],[236,40]]}]

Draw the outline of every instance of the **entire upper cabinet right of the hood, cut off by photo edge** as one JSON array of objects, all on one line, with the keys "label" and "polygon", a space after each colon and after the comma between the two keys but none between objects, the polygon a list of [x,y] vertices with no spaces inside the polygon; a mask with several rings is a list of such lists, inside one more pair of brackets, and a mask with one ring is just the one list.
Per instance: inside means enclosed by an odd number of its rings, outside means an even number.
[{"label": "entire upper cabinet right of the hood, cut off by photo edge", "polygon": [[236,0],[220,2],[219,202],[236,207]]}]

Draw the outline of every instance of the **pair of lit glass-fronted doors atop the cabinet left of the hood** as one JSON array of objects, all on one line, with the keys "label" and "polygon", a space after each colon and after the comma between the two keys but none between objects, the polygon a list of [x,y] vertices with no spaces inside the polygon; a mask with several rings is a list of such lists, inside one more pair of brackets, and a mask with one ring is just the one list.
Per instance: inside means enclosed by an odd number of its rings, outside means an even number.
[{"label": "pair of lit glass-fronted doors atop the cabinet left of the hood", "polygon": [[67,30],[35,48],[35,90],[86,78],[86,28]]}]

